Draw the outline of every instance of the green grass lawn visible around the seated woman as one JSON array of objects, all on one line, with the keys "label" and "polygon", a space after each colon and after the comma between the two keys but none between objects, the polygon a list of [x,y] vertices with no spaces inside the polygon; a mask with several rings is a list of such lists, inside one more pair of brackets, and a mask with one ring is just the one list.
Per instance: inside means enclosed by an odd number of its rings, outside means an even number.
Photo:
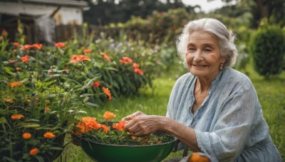
[{"label": "green grass lawn visible around the seated woman", "polygon": [[[180,65],[181,66],[181,65]],[[175,68],[177,70],[177,68]],[[175,73],[178,72],[178,73]],[[96,109],[86,109],[88,116],[102,119],[105,111],[111,111],[117,114],[115,120],[120,120],[128,114],[140,110],[146,114],[165,115],[167,102],[170,97],[172,86],[177,80],[177,76],[182,75],[185,70],[166,72],[164,75],[157,77],[153,82],[153,89],[142,88],[140,95],[128,99],[113,99]],[[274,144],[279,149],[281,156],[285,159],[285,73],[271,80],[264,80],[257,72],[252,70],[249,65],[247,73],[251,78],[254,87],[259,95],[259,101],[264,113],[264,119],[269,124],[270,135]],[[70,139],[67,136],[66,142]],[[181,157],[182,151],[170,153],[167,158]],[[79,146],[69,144],[63,151],[61,159],[56,161],[91,161]]]}]

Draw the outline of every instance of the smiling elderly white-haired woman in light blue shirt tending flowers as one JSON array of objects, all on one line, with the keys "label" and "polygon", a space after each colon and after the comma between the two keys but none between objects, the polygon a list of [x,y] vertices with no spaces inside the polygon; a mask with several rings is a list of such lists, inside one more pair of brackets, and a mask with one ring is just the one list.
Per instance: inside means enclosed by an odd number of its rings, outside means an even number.
[{"label": "smiling elderly white-haired woman in light blue shirt tending flowers", "polygon": [[166,117],[135,112],[125,131],[168,131],[181,141],[178,149],[210,161],[282,161],[251,80],[231,68],[234,34],[214,18],[190,21],[177,50],[189,72],[175,82]]}]

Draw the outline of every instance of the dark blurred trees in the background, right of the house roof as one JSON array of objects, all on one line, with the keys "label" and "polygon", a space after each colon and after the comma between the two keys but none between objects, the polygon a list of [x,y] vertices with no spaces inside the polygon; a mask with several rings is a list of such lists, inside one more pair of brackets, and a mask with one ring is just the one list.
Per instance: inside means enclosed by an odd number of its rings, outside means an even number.
[{"label": "dark blurred trees in the background, right of the house roof", "polygon": [[117,1],[95,0],[89,1],[90,9],[83,13],[85,22],[94,25],[106,25],[109,23],[125,23],[131,16],[146,18],[152,11],[167,11],[168,9],[177,9],[185,7],[182,1],[174,0],[161,1],[152,0],[120,0]]}]

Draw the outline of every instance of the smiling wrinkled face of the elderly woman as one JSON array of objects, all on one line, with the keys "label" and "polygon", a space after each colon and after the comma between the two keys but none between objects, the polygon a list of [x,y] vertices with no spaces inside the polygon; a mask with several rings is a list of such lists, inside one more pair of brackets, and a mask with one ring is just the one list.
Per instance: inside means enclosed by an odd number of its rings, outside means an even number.
[{"label": "smiling wrinkled face of the elderly woman", "polygon": [[187,43],[186,63],[189,72],[199,78],[214,80],[219,65],[225,62],[217,38],[206,31],[195,31]]}]

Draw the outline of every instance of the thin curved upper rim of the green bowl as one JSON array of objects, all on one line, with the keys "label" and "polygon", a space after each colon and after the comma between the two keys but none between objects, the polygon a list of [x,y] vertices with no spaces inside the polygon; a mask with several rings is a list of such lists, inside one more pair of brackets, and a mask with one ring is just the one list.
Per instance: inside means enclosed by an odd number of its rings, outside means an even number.
[{"label": "thin curved upper rim of the green bowl", "polygon": [[[152,147],[152,146],[162,146],[162,145],[167,145],[167,144],[174,144],[175,141],[177,141],[177,139],[173,139],[172,141],[167,141],[167,142],[164,142],[164,143],[161,143],[161,144],[151,144],[151,145],[118,145],[118,144],[103,144],[103,143],[99,143],[97,141],[93,141],[91,139],[84,139],[84,138],[81,138],[81,140],[85,140],[85,141],[88,141],[88,142],[91,142],[91,143],[95,143],[95,144],[99,144],[99,145],[102,145],[102,146],[114,146],[114,147],[138,147],[138,148],[141,148],[141,147]],[[82,146],[82,143],[81,143],[81,146]]]}]

